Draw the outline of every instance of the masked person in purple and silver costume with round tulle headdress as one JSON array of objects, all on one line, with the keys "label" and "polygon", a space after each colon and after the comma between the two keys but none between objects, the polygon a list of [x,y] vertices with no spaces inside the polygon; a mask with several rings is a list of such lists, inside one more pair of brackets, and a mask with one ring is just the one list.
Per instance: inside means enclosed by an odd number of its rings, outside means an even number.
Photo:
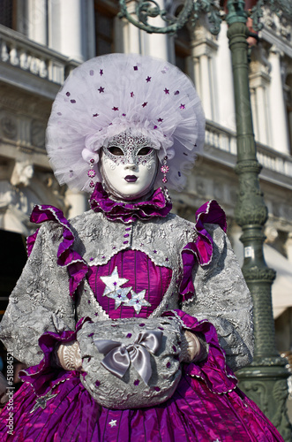
[{"label": "masked person in purple and silver costume with round tulle headdress", "polygon": [[28,368],[1,440],[282,440],[231,370],[251,362],[251,296],[224,212],[170,213],[204,133],[191,80],[165,61],[112,54],[65,81],[48,154],[91,210],[34,208],[1,324]]}]

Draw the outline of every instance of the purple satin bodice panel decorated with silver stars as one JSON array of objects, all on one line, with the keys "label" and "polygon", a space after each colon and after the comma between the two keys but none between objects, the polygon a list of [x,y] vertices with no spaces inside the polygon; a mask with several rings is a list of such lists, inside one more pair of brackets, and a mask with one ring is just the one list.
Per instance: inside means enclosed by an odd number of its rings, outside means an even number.
[{"label": "purple satin bodice panel decorated with silver stars", "polygon": [[[145,253],[125,250],[109,263],[90,266],[87,279],[102,309],[117,319],[151,315],[167,292],[171,276],[171,269],[155,265]],[[116,292],[109,292],[111,288]]]}]

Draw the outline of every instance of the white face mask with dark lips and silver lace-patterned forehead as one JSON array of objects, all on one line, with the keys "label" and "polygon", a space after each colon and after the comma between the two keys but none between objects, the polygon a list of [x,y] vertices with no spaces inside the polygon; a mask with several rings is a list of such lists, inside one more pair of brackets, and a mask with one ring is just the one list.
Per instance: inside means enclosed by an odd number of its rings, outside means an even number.
[{"label": "white face mask with dark lips and silver lace-patterned forehead", "polygon": [[111,194],[135,200],[153,189],[158,158],[151,141],[124,132],[103,147],[101,175]]}]

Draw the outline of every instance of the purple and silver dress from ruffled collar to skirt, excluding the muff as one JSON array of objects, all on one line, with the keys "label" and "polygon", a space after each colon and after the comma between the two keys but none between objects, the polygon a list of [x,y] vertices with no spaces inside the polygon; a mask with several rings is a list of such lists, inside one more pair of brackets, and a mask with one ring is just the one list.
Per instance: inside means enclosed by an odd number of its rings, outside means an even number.
[{"label": "purple and silver dress from ruffled collar to skirt, excluding the muff", "polygon": [[[91,206],[70,222],[50,206],[34,209],[32,220],[44,224],[28,241],[30,257],[1,324],[1,339],[29,368],[14,397],[15,434],[7,434],[4,409],[1,440],[281,441],[229,369],[251,361],[251,299],[220,206],[207,202],[192,224],[169,213],[161,189],[148,201],[115,202],[99,183]],[[80,345],[94,345],[94,332],[82,334],[86,327],[104,321],[115,327],[122,319],[132,344],[133,329],[147,331],[148,322],[153,328],[164,318],[203,336],[208,354],[180,364],[180,341],[172,346],[161,378],[172,364],[180,366],[181,378],[158,405],[147,406],[151,391],[161,390],[154,373],[145,404],[119,409],[118,403],[105,408],[94,400],[86,371],[53,366],[57,342],[82,336]],[[164,332],[160,325],[157,330]],[[85,367],[93,367],[93,391],[104,387],[110,395],[112,385],[102,385],[108,378],[98,377],[97,362],[83,357]],[[124,382],[139,392],[143,377],[129,370]]]}]

